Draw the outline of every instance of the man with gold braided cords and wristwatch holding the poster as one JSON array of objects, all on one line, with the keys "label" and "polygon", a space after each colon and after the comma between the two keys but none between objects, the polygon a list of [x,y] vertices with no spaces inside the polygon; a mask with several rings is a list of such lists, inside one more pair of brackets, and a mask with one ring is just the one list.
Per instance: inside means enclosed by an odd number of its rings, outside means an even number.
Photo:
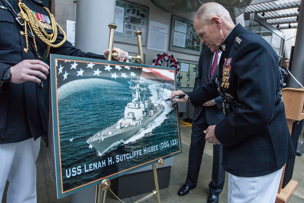
[{"label": "man with gold braided cords and wristwatch holding the poster", "polygon": [[[40,136],[47,129],[41,81],[50,68],[39,55],[49,49],[52,54],[105,57],[73,47],[43,5],[33,0],[7,1],[0,1],[0,201],[9,180],[7,202],[33,203],[37,201],[35,162]],[[16,19],[19,12],[23,20]],[[127,57],[127,52],[113,50],[119,62]]]}]

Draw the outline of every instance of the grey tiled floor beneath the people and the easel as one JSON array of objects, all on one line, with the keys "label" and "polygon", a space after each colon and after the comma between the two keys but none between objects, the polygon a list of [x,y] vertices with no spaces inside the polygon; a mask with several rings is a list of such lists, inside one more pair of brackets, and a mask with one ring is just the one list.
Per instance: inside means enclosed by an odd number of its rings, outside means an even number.
[{"label": "grey tiled floor beneath the people and the easel", "polygon": [[[197,187],[192,189],[186,196],[177,195],[179,187],[184,184],[188,168],[188,152],[190,145],[191,127],[181,127],[183,153],[175,156],[174,166],[171,167],[170,186],[160,190],[161,202],[165,203],[196,203],[207,202],[209,189],[208,184],[211,180],[212,170],[212,144],[206,143],[203,161],[199,174]],[[70,197],[57,199],[56,184],[50,167],[50,161],[45,145],[41,144],[40,154],[36,163],[37,166],[37,199],[40,203],[69,203]],[[288,203],[304,203],[304,155],[297,156],[292,180],[297,181],[298,187],[289,199]],[[226,176],[227,182],[227,176]],[[222,193],[219,195],[219,203],[227,202],[227,184],[224,185]],[[147,194],[141,194],[123,199],[126,203],[134,202]],[[5,199],[5,195],[4,198]],[[3,200],[2,203],[6,201]],[[118,203],[109,191],[106,195],[107,203]],[[156,198],[150,198],[145,202],[156,202]],[[89,202],[90,203],[90,202]],[[93,203],[93,202],[92,202]]]}]

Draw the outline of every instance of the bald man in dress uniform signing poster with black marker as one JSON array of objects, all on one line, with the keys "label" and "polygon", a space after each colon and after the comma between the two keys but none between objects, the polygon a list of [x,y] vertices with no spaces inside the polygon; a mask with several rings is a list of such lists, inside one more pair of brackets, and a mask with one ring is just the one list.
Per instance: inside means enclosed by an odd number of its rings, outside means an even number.
[{"label": "bald man in dress uniform signing poster with black marker", "polygon": [[[222,51],[219,75],[175,102],[194,107],[222,96],[225,119],[206,140],[223,144],[228,202],[274,203],[283,166],[295,156],[281,102],[278,55],[259,35],[234,25],[220,4],[203,4],[193,20],[201,43]],[[172,92],[171,98],[183,94]]]}]

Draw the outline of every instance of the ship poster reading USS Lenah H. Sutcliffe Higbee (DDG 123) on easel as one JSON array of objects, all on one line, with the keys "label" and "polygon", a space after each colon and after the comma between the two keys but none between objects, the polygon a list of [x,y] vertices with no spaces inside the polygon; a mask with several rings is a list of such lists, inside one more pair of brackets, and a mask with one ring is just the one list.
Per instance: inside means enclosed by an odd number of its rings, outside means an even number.
[{"label": "ship poster reading USS Lenah H. Sutcliffe Higbee (DDG 123) on easel", "polygon": [[50,55],[57,197],[182,152],[174,68]]}]

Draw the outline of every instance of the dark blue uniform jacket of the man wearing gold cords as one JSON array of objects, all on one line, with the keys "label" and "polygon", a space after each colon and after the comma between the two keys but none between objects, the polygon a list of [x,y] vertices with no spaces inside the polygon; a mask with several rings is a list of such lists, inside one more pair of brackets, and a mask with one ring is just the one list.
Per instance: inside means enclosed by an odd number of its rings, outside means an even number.
[{"label": "dark blue uniform jacket of the man wearing gold cords", "polygon": [[[8,0],[13,9],[18,13],[17,0]],[[29,9],[48,16],[43,5],[33,0],[22,0]],[[4,6],[2,1],[0,5]],[[12,14],[0,8],[0,77],[5,69],[25,59],[35,59],[29,44],[29,51],[25,53],[25,37],[20,33],[21,28]],[[52,33],[51,30],[47,32]],[[58,37],[54,44],[58,44],[63,35],[58,30]],[[38,37],[35,37],[39,53],[43,55],[47,45]],[[66,41],[59,48],[50,48],[50,53],[71,55],[87,58],[104,59],[102,55],[81,52]],[[52,71],[52,70],[51,70]],[[53,70],[55,71],[55,70]],[[43,99],[41,85],[35,82],[24,82],[22,84],[4,83],[0,88],[0,144],[21,142],[29,138],[37,139],[46,133],[47,109]]]}]

